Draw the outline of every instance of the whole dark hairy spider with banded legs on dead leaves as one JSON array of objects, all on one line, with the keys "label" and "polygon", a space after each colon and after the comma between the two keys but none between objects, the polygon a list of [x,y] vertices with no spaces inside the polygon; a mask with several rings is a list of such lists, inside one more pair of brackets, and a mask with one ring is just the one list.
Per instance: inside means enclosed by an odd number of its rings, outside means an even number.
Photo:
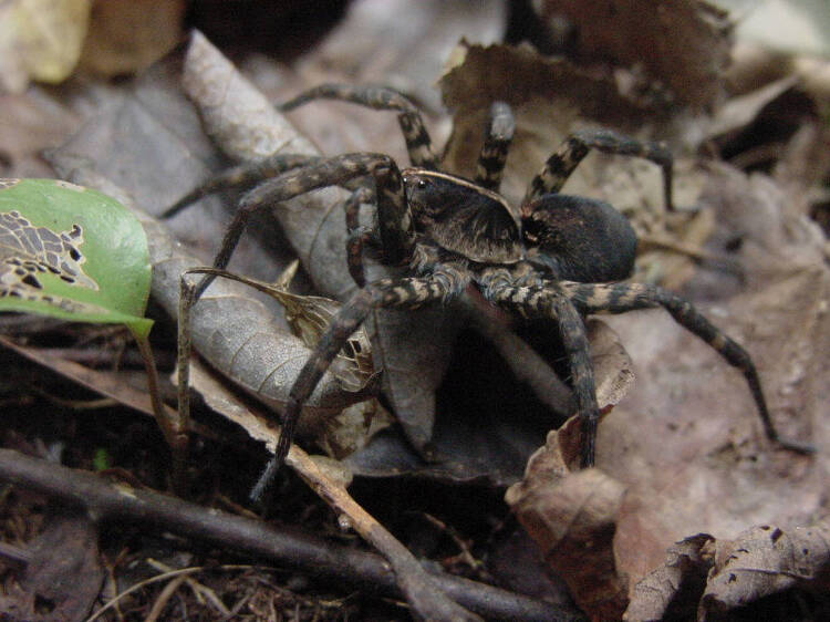
[{"label": "whole dark hairy spider with banded legs on dead leaves", "polygon": [[[267,206],[323,186],[352,189],[345,201],[349,269],[360,286],[332,320],[290,391],[282,433],[253,496],[258,497],[288,454],[297,421],[334,356],[367,314],[377,308],[416,309],[459,296],[475,286],[490,302],[526,318],[547,318],[558,326],[570,366],[577,414],[581,421],[581,465],[594,463],[599,410],[583,318],[662,307],[745,375],[767,437],[779,445],[809,452],[784,440],[775,429],[758,373],[747,352],[715,328],[682,298],[658,287],[621,283],[634,267],[636,236],[610,205],[559,194],[591,148],[647,158],[662,168],[666,206],[672,208],[671,153],[612,132],[572,135],[532,179],[518,211],[498,194],[513,134],[507,104],[494,103],[475,179],[438,170],[418,110],[403,95],[384,87],[322,85],[288,102],[291,110],[315,99],[334,99],[375,110],[394,110],[406,141],[412,167],[398,170],[382,154],[353,153],[334,157],[276,155],[266,163],[237,167],[194,190],[173,206],[173,214],[199,196],[230,184],[262,182],[241,199],[215,260],[225,268],[249,216]],[[367,180],[373,182],[367,183]],[[374,203],[376,224],[359,225],[361,203]],[[363,249],[380,250],[381,260],[405,266],[408,274],[371,283],[363,276]],[[211,277],[183,298],[193,300]]]}]

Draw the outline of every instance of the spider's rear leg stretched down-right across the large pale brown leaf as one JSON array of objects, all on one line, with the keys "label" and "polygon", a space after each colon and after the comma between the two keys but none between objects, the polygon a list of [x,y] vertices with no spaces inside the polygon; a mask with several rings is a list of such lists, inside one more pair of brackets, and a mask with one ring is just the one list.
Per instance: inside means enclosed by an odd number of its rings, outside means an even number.
[{"label": "spider's rear leg stretched down-right across the large pale brown leaf", "polygon": [[601,311],[624,313],[635,309],[662,307],[678,324],[702,339],[727,363],[743,372],[767,438],[793,452],[802,454],[815,452],[810,445],[787,440],[779,436],[772,424],[760,379],[749,353],[709,322],[687,300],[662,288],[641,283],[585,284],[561,281],[559,286],[568,292],[583,314]]}]

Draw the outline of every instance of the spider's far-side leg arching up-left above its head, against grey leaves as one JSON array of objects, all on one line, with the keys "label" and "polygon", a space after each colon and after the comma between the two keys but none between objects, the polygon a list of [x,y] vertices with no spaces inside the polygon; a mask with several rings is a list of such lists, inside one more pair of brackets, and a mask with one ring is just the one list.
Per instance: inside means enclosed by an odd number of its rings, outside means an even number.
[{"label": "spider's far-side leg arching up-left above its head, against grey leaves", "polygon": [[373,110],[397,111],[397,123],[406,141],[406,151],[413,166],[438,170],[438,158],[433,152],[433,142],[424,125],[421,111],[404,95],[385,86],[321,84],[300,93],[293,100],[278,106],[282,112],[292,111],[314,100],[351,102]]}]

